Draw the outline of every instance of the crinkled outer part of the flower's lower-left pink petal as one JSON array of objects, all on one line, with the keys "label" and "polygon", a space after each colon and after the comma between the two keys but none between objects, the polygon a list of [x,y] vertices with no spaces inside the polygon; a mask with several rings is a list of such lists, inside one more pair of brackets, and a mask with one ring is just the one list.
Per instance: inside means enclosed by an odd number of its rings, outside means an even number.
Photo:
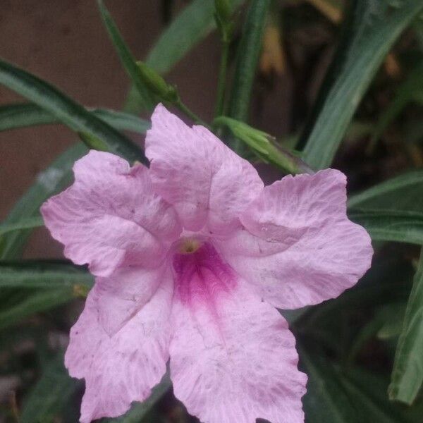
[{"label": "crinkled outer part of the flower's lower-left pink petal", "polygon": [[[120,283],[120,281],[119,281]],[[153,298],[113,336],[100,323],[98,285],[71,329],[65,364],[85,378],[80,422],[117,417],[145,400],[166,372],[173,283],[166,275]]]}]

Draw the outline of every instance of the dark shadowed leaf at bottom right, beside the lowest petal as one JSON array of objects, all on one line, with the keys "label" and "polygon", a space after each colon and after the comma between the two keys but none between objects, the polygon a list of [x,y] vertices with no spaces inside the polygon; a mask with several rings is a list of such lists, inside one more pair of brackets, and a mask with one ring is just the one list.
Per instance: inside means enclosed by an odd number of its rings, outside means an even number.
[{"label": "dark shadowed leaf at bottom right, beside the lowest petal", "polygon": [[389,403],[386,385],[378,376],[364,371],[342,372],[338,366],[317,355],[308,355],[303,349],[300,357],[309,376],[307,394],[303,398],[307,422],[412,421],[400,407]]}]

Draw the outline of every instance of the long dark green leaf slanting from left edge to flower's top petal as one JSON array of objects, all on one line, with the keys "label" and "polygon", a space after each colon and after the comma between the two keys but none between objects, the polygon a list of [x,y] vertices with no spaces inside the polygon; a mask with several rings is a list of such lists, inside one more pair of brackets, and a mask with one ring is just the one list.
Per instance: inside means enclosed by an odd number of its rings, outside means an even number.
[{"label": "long dark green leaf slanting from left edge to flower's top petal", "polygon": [[111,152],[131,161],[147,162],[141,150],[125,135],[97,118],[49,82],[0,60],[0,84],[49,111],[76,133],[87,133],[102,140]]}]

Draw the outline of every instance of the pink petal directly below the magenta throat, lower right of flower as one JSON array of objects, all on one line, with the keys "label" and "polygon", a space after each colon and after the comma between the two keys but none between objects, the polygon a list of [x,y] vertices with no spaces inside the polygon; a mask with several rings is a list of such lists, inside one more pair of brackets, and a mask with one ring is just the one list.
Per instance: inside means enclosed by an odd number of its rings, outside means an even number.
[{"label": "pink petal directly below the magenta throat, lower right of flower", "polygon": [[178,296],[170,345],[173,390],[207,423],[303,423],[307,377],[281,315],[243,281],[219,290],[212,309]]}]

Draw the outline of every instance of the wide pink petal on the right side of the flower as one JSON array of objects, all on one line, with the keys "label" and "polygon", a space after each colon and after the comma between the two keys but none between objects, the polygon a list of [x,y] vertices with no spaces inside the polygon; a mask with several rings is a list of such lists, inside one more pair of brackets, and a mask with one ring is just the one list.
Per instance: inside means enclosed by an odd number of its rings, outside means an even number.
[{"label": "wide pink petal on the right side of the flower", "polygon": [[373,253],[367,232],[346,216],[345,184],[332,169],[286,176],[264,188],[219,251],[275,307],[337,297],[369,269]]}]

